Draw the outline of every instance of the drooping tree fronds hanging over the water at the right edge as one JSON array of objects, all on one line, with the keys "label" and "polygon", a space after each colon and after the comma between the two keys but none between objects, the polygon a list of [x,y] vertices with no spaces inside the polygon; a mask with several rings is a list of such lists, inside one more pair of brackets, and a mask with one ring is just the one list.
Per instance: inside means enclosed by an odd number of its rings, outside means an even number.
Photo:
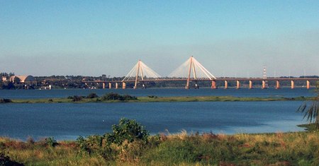
[{"label": "drooping tree fronds hanging over the water at the right edge", "polygon": [[297,112],[303,113],[303,119],[307,118],[307,121],[311,124],[315,124],[316,129],[319,129],[319,82],[315,86],[315,92],[317,96],[309,102],[304,102]]}]

